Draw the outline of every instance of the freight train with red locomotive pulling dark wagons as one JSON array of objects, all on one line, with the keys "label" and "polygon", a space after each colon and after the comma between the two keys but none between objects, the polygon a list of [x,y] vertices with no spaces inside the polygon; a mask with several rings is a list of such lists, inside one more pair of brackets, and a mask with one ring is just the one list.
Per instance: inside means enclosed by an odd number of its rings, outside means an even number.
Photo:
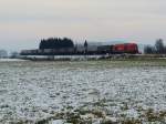
[{"label": "freight train with red locomotive pulling dark wagons", "polygon": [[21,55],[95,55],[95,54],[136,54],[138,53],[138,45],[136,43],[122,43],[112,45],[83,45],[64,48],[64,49],[39,49],[39,50],[23,50]]}]

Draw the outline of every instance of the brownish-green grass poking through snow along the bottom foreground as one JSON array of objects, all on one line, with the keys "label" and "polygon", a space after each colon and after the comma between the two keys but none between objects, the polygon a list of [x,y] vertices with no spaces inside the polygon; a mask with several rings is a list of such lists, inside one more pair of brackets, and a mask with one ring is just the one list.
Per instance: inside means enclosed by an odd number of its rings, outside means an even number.
[{"label": "brownish-green grass poking through snow along the bottom foreground", "polygon": [[[125,110],[124,110],[125,111]],[[38,121],[35,124],[49,124],[52,120],[64,120],[66,123],[71,124],[92,124],[92,117],[83,118],[82,115],[94,115],[94,118],[100,118],[100,124],[143,124],[143,123],[156,123],[164,124],[166,122],[166,112],[159,111],[155,112],[153,108],[147,108],[142,111],[142,115],[134,118],[128,117],[125,114],[123,116],[116,116],[116,122],[113,120],[107,120],[107,115],[101,110],[77,110],[75,112],[58,113],[52,117],[43,118]],[[113,116],[112,116],[113,117]],[[25,122],[18,122],[15,124],[25,124]],[[27,123],[28,124],[28,123]]]}]

